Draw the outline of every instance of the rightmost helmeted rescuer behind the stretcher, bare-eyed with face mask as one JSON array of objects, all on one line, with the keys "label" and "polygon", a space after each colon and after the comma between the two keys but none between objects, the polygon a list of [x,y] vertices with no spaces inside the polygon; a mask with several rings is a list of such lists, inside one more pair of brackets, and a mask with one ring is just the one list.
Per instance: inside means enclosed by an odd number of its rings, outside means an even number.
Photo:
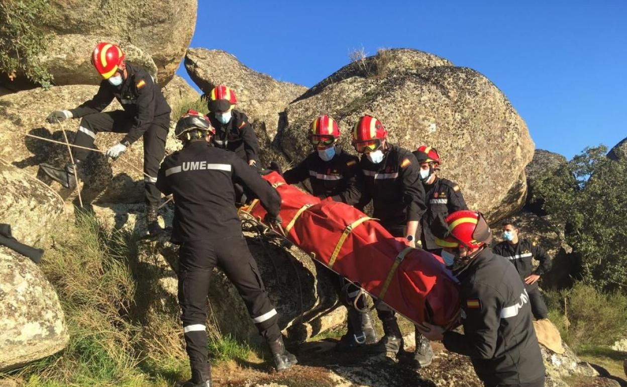
[{"label": "rightmost helmeted rescuer behind the stretcher, bare-eyed with face mask", "polygon": [[440,154],[433,147],[421,145],[412,152],[420,164],[420,181],[423,183],[427,210],[423,215],[422,245],[428,252],[440,255],[446,266],[453,265],[453,257],[436,245],[436,236],[444,238],[448,228],[446,216],[460,209],[468,209],[458,184],[438,176]]}]

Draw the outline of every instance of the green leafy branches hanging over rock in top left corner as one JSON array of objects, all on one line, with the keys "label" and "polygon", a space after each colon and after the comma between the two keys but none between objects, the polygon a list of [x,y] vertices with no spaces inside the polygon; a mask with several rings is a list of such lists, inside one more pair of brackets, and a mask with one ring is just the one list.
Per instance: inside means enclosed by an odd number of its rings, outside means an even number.
[{"label": "green leafy branches hanging over rock in top left corner", "polygon": [[52,75],[38,56],[46,51],[51,34],[37,25],[51,12],[48,0],[0,1],[0,73],[11,80],[23,73],[43,87],[50,86]]}]

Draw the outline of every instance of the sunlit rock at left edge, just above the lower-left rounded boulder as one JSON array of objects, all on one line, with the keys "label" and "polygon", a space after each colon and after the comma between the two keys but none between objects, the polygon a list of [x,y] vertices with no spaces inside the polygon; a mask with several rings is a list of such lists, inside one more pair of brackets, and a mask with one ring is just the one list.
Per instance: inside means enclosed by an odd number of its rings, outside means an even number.
[{"label": "sunlit rock at left edge, just above the lower-left rounded boulder", "polygon": [[27,245],[40,241],[63,212],[63,200],[46,184],[0,159],[0,223]]}]

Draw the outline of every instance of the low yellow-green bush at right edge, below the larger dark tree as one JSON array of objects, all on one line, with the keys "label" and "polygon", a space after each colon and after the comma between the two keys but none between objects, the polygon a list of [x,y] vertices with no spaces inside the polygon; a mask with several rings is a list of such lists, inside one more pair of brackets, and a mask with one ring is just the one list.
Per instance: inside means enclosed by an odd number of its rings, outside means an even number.
[{"label": "low yellow-green bush at right edge, below the larger dark tree", "polygon": [[611,345],[627,332],[627,295],[603,292],[584,282],[545,294],[549,319],[574,349]]}]

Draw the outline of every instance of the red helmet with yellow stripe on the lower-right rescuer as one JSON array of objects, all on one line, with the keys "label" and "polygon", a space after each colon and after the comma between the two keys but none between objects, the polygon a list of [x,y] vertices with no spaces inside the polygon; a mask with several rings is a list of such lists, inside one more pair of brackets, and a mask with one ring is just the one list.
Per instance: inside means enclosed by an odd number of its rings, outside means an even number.
[{"label": "red helmet with yellow stripe on the lower-right rescuer", "polygon": [[455,211],[445,221],[448,233],[444,239],[436,238],[438,246],[456,248],[464,245],[467,248],[478,248],[492,241],[490,226],[477,211]]}]

